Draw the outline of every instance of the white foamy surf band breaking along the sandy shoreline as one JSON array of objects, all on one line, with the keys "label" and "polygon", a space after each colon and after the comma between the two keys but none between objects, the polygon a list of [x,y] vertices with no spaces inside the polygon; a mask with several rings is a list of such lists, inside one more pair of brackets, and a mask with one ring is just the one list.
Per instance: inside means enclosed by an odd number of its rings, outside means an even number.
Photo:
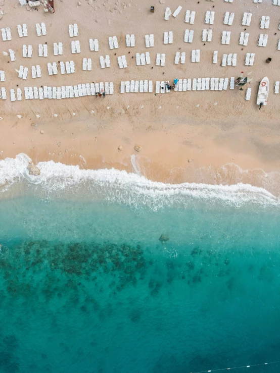
[{"label": "white foamy surf band breaking along the sandy shoreline", "polygon": [[[107,202],[124,203],[153,210],[165,206],[189,206],[190,202],[221,202],[241,207],[247,203],[280,206],[280,200],[267,190],[249,184],[209,185],[198,183],[165,184],[135,173],[115,169],[80,170],[53,161],[40,162],[39,176],[28,174],[31,159],[26,154],[0,161],[0,186],[7,191],[15,183],[26,183],[30,193],[41,197],[83,196]],[[135,166],[135,165],[134,165]]]}]

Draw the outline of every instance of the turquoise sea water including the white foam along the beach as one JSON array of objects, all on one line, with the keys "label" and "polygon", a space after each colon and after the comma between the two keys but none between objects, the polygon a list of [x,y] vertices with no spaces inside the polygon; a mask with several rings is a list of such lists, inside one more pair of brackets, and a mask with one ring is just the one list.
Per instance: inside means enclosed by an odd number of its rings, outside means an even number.
[{"label": "turquoise sea water including the white foam along the beach", "polygon": [[0,161],[1,373],[280,360],[277,198],[53,162],[32,177],[27,164]]}]

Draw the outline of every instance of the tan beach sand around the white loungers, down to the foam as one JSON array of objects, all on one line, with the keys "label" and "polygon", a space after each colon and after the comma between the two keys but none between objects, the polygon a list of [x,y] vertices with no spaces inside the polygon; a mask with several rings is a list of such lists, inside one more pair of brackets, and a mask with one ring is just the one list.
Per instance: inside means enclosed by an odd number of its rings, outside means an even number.
[{"label": "tan beach sand around the white loungers, down to the foam", "polygon": [[[151,5],[155,6],[155,13],[150,13]],[[179,5],[183,7],[179,16],[164,21],[165,8],[169,6],[174,11]],[[276,50],[280,37],[280,7],[272,6],[272,0],[263,0],[258,5],[252,0],[234,0],[232,4],[222,0],[165,0],[164,4],[158,0],[153,4],[148,0],[129,3],[81,0],[81,6],[76,0],[55,0],[55,8],[55,14],[44,14],[42,9],[26,11],[17,0],[5,0],[2,6],[1,28],[10,27],[12,30],[12,40],[1,42],[0,50],[0,69],[6,72],[6,82],[1,85],[8,93],[8,99],[0,101],[0,116],[4,118],[0,122],[2,158],[25,152],[34,163],[53,159],[55,162],[79,164],[82,168],[115,167],[164,182],[250,182],[279,194],[280,109],[279,96],[273,93],[273,86],[276,80],[280,80],[280,51]],[[196,11],[194,25],[184,23],[187,9]],[[215,11],[214,24],[210,25],[213,41],[203,45],[202,30],[209,27],[204,23],[207,10]],[[226,11],[235,13],[232,26],[223,25]],[[253,13],[251,25],[242,26],[242,15],[249,11]],[[268,30],[259,28],[263,15],[270,16]],[[37,37],[37,22],[46,24],[46,36]],[[19,23],[27,24],[27,38],[19,38]],[[79,36],[74,39],[80,41],[81,54],[71,54],[70,23],[78,24]],[[192,44],[183,42],[186,28],[195,31]],[[248,46],[238,44],[244,28],[250,33]],[[221,44],[221,33],[225,30],[231,31],[229,45]],[[173,31],[173,44],[163,44],[164,31]],[[135,35],[134,48],[125,46],[127,33]],[[145,34],[150,33],[155,35],[155,46],[147,49]],[[260,33],[268,34],[265,48],[257,46]],[[110,50],[108,37],[114,35],[118,37],[120,47]],[[98,38],[99,52],[89,50],[90,37]],[[55,57],[53,43],[59,41],[63,42],[64,53]],[[38,44],[45,42],[48,42],[49,57],[39,58]],[[23,44],[33,46],[31,59],[22,57]],[[9,57],[4,57],[2,52],[9,48],[15,50],[16,61],[8,64]],[[186,52],[184,65],[174,65],[175,52],[179,48]],[[191,50],[198,48],[201,49],[201,62],[191,63]],[[136,52],[147,50],[151,55],[151,65],[136,66]],[[219,52],[217,65],[212,63],[214,50]],[[159,52],[166,54],[165,67],[155,65]],[[221,67],[222,54],[234,52],[238,55],[237,66]],[[244,65],[247,52],[255,53],[254,65],[250,67]],[[111,68],[101,69],[99,57],[106,54],[110,56]],[[118,68],[117,56],[121,55],[126,56],[127,69]],[[84,57],[92,59],[90,72],[81,69]],[[270,64],[265,63],[268,57],[272,58]],[[75,62],[75,74],[48,75],[48,62],[70,60]],[[32,79],[31,66],[37,64],[41,66],[42,78]],[[15,69],[20,65],[29,68],[27,81],[17,77]],[[245,90],[237,88],[157,95],[119,93],[121,80],[171,82],[174,78],[237,77],[241,72],[252,72],[250,101],[245,100]],[[270,80],[270,93],[268,105],[259,111],[255,103],[258,82],[265,75]],[[10,88],[16,89],[17,84],[24,91],[24,86],[31,85],[61,86],[100,81],[112,81],[114,95],[64,100],[25,100],[24,97],[22,101],[10,100]],[[54,114],[58,117],[55,118]],[[18,119],[17,115],[22,118]],[[31,123],[36,126],[31,126]],[[133,149],[135,144],[142,146],[141,152]],[[119,146],[122,150],[118,150]]]}]

